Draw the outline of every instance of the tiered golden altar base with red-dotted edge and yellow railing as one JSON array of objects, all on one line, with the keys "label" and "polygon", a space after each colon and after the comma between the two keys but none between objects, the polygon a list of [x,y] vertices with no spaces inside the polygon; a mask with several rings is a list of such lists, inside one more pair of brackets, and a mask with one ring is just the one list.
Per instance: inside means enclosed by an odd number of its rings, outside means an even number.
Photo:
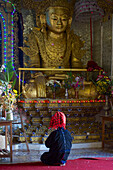
[{"label": "tiered golden altar base with red-dotted edge and yellow railing", "polygon": [[[31,70],[43,72],[43,70],[50,71],[51,69],[31,68]],[[87,69],[54,69],[53,71],[55,72],[59,70],[61,72],[71,71],[72,73],[87,73]],[[21,85],[24,86],[25,71],[27,71],[26,68],[19,68],[19,79],[20,77],[23,77],[23,83],[19,84],[19,91],[21,89]],[[101,74],[101,71],[99,74]],[[87,87],[88,84],[88,81],[86,82],[87,83],[85,87]],[[67,129],[73,136],[73,143],[101,141],[101,123],[98,121],[98,119],[96,120],[96,117],[98,117],[100,112],[102,112],[103,106],[105,105],[105,100],[95,99],[95,93],[93,96],[91,87],[92,84],[89,82],[88,88],[90,89],[90,95],[88,96],[87,94],[87,97],[83,95],[85,94],[85,91],[82,91],[83,96],[79,96],[78,98],[71,96],[67,99],[65,93],[62,93],[63,96],[57,96],[56,99],[52,99],[51,96],[49,98],[38,97],[20,99],[18,104],[25,109],[29,117],[29,124],[26,125],[28,141],[32,143],[44,143],[48,135],[51,133],[51,130],[48,129],[48,126],[51,116],[56,111],[62,111],[65,113],[67,117]],[[22,133],[20,134],[19,140],[25,141]]]}]

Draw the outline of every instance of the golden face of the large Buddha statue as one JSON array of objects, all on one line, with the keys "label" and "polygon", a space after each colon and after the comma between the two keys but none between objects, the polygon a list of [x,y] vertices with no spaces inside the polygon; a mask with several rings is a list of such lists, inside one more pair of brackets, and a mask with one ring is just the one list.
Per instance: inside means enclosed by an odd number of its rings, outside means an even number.
[{"label": "golden face of the large Buddha statue", "polygon": [[69,11],[63,7],[50,7],[46,12],[47,27],[54,33],[66,30],[69,21]]}]

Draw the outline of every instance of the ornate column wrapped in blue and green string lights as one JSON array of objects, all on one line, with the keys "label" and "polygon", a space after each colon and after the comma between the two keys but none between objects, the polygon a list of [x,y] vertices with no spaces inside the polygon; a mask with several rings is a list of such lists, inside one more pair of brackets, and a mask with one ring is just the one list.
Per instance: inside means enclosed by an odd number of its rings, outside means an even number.
[{"label": "ornate column wrapped in blue and green string lights", "polygon": [[2,27],[2,64],[13,60],[13,13],[14,5],[0,0],[0,22]]}]

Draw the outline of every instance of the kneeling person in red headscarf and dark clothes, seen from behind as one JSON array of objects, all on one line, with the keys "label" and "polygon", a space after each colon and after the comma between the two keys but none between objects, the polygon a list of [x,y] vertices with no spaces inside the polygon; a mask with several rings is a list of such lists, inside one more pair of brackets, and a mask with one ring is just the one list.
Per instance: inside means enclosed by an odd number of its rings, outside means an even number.
[{"label": "kneeling person in red headscarf and dark clothes, seen from behind", "polygon": [[66,126],[66,116],[62,112],[56,112],[52,116],[49,128],[56,129],[53,131],[45,145],[49,152],[44,152],[41,161],[47,165],[65,165],[72,147],[72,137]]}]

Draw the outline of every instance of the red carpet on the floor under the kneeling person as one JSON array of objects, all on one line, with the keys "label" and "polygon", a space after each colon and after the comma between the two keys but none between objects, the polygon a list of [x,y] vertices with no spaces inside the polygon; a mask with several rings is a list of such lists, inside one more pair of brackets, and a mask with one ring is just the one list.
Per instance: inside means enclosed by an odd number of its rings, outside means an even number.
[{"label": "red carpet on the floor under the kneeling person", "polygon": [[68,160],[64,167],[47,166],[41,162],[0,164],[0,170],[113,170],[113,158],[80,158]]}]

